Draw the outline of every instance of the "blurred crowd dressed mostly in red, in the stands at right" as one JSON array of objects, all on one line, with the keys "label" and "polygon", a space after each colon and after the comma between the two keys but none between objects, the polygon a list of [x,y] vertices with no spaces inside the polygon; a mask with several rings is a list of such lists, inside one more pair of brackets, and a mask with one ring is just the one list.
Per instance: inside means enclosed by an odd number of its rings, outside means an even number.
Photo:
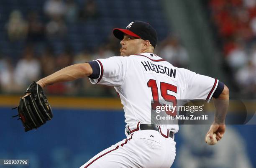
[{"label": "blurred crowd dressed mostly in red, in the stands at right", "polygon": [[255,98],[256,0],[210,0],[208,5],[231,81],[246,98]]}]

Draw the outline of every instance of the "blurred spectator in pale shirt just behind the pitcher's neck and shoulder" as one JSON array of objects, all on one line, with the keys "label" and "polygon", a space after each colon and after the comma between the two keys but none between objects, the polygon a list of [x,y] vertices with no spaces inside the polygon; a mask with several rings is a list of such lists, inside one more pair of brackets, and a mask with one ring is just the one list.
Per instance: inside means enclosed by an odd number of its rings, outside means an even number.
[{"label": "blurred spectator in pale shirt just behind the pitcher's neck and shoulder", "polygon": [[161,44],[160,56],[178,67],[187,67],[189,56],[187,50],[180,45],[179,40],[176,37],[169,36]]}]

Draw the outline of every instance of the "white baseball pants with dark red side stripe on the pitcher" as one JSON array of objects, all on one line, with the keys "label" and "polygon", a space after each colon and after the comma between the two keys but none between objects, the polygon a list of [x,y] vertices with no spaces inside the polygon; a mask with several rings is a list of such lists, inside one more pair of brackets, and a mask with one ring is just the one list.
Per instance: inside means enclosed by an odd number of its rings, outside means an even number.
[{"label": "white baseball pants with dark red side stripe on the pitcher", "polygon": [[170,168],[175,142],[155,130],[138,130],[95,155],[80,168]]}]

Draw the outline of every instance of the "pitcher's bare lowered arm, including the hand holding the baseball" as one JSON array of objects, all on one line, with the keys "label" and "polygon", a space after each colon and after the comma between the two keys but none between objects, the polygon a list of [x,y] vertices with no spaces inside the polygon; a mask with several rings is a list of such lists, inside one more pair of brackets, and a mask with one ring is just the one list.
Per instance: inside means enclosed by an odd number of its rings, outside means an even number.
[{"label": "pitcher's bare lowered arm, including the hand holding the baseball", "polygon": [[[214,105],[215,105],[215,117],[214,122],[210,126],[210,130],[205,135],[205,142],[210,144],[209,140],[207,140],[207,135],[210,137],[210,141],[214,141],[213,134],[216,134],[217,141],[221,140],[225,133],[225,117],[228,112],[228,105],[229,105],[229,91],[228,87],[224,85],[224,89],[220,96],[217,99],[214,99]],[[212,143],[210,145],[214,145],[215,143]]]}]

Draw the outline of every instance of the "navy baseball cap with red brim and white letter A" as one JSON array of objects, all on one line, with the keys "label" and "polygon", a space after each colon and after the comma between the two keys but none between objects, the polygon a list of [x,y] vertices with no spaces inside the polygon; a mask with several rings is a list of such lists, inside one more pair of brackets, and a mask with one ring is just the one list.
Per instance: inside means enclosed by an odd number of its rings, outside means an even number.
[{"label": "navy baseball cap with red brim and white letter A", "polygon": [[114,28],[113,34],[116,38],[123,40],[123,35],[127,34],[143,40],[148,40],[154,48],[156,48],[157,34],[156,30],[149,24],[143,21],[135,20],[128,24],[125,29]]}]

